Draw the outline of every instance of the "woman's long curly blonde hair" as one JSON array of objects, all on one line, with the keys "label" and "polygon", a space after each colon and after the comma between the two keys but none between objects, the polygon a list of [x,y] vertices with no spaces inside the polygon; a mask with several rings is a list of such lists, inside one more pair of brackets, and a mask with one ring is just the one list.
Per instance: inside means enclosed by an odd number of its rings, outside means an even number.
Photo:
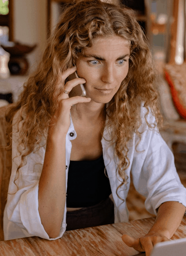
[{"label": "woman's long curly blonde hair", "polygon": [[[114,127],[111,143],[115,144],[115,154],[120,159],[116,175],[119,174],[122,183],[117,188],[117,195],[118,189],[127,183],[125,170],[130,164],[127,144],[133,133],[138,134],[140,139],[138,128],[142,123],[142,102],[147,109],[146,116],[149,111],[155,116],[154,126],[160,121],[155,69],[148,41],[131,9],[100,0],[78,0],[64,8],[37,70],[24,85],[20,100],[7,114],[7,121],[12,124],[17,110],[26,113],[26,117],[21,114],[23,124],[19,131],[18,152],[21,154],[22,146],[27,146],[28,150],[21,155],[22,162],[18,169],[25,164],[25,157],[29,153],[39,149],[37,146],[43,134],[47,134],[65,82],[61,81],[62,73],[73,66],[87,47],[92,46],[95,38],[115,35],[126,39],[130,45],[128,74],[106,108],[108,125]],[[60,83],[59,91],[56,88]],[[147,124],[151,127],[151,124]],[[8,129],[11,138],[10,125]]]}]

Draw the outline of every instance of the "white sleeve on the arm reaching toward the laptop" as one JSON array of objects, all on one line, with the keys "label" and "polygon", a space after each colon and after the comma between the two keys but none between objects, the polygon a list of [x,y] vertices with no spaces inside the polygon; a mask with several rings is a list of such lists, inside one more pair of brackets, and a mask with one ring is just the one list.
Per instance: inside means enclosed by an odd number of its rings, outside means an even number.
[{"label": "white sleeve on the arm reaching toward the laptop", "polygon": [[186,188],[176,171],[174,156],[157,129],[146,126],[133,161],[133,182],[146,197],[145,208],[152,214],[166,201],[186,207]]}]

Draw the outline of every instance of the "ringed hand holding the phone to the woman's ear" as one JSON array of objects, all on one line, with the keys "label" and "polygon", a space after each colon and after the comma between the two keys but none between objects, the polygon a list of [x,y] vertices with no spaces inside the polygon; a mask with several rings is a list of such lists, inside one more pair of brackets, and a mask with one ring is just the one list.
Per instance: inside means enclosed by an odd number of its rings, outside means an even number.
[{"label": "ringed hand holding the phone to the woman's ear", "polygon": [[[62,74],[62,83],[64,83],[65,79],[72,73],[76,71],[76,68],[70,68],[63,72]],[[73,87],[80,83],[86,83],[86,80],[84,78],[75,78],[73,80],[68,81],[64,89],[67,91],[71,91]],[[60,84],[59,86],[63,87],[63,84]],[[61,88],[59,88],[61,89]],[[68,94],[63,91],[63,93],[58,98],[59,101],[59,108],[56,109],[55,116],[57,118],[57,121],[54,120],[50,123],[50,130],[52,130],[52,134],[65,134],[68,132],[69,125],[70,125],[70,110],[71,107],[74,104],[77,103],[84,103],[84,102],[90,102],[90,98],[75,96],[72,98],[69,98]]]}]

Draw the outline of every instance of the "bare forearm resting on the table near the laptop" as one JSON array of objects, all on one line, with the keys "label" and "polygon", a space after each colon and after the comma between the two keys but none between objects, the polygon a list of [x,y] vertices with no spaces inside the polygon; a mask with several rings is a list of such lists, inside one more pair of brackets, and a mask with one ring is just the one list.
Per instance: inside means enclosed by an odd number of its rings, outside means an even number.
[{"label": "bare forearm resting on the table near the laptop", "polygon": [[153,227],[148,234],[161,233],[170,239],[179,227],[185,206],[176,201],[167,201],[160,205]]}]

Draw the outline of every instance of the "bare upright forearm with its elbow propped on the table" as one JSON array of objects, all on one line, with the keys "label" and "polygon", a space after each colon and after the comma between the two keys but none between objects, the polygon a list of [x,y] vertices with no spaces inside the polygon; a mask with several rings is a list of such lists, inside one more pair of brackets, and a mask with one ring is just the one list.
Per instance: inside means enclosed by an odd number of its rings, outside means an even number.
[{"label": "bare upright forearm with its elbow propped on the table", "polygon": [[59,235],[66,200],[65,136],[48,137],[45,158],[39,180],[39,214],[50,238]]}]

